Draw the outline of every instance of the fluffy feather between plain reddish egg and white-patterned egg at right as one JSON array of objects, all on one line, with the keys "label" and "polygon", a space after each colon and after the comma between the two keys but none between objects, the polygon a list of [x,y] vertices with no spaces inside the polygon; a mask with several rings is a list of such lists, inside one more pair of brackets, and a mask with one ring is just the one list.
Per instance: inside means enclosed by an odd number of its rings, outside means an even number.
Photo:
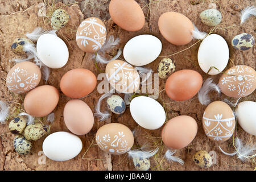
[{"label": "fluffy feather between plain reddish egg and white-patterned egg at right", "polygon": [[208,105],[210,103],[208,93],[211,90],[215,90],[218,93],[221,92],[218,85],[214,84],[212,78],[207,78],[207,80],[204,81],[202,88],[198,92],[198,100],[202,105]]}]

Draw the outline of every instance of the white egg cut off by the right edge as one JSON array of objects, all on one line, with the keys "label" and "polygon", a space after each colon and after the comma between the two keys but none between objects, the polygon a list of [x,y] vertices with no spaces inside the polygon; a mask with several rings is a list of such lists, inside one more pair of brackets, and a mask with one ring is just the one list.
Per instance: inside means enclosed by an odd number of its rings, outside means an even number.
[{"label": "white egg cut off by the right edge", "polygon": [[240,102],[236,109],[236,116],[242,129],[256,136],[256,102]]}]

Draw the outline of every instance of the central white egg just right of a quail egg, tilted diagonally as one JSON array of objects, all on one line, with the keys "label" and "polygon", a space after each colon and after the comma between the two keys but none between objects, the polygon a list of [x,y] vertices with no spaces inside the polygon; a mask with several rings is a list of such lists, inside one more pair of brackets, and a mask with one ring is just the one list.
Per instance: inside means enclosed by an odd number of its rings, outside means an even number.
[{"label": "central white egg just right of a quail egg, tilted diagonally", "polygon": [[148,130],[159,129],[166,121],[166,112],[158,101],[146,96],[131,100],[131,116],[138,125]]}]

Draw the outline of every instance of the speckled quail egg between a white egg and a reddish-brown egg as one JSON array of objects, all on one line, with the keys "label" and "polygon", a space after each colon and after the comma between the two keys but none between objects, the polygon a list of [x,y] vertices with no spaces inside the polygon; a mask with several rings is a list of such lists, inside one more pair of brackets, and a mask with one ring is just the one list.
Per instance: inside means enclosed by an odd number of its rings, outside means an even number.
[{"label": "speckled quail egg between a white egg and a reddish-brown egg", "polygon": [[158,75],[160,78],[164,79],[171,75],[175,71],[176,64],[175,61],[170,58],[164,58],[160,61],[158,65]]}]

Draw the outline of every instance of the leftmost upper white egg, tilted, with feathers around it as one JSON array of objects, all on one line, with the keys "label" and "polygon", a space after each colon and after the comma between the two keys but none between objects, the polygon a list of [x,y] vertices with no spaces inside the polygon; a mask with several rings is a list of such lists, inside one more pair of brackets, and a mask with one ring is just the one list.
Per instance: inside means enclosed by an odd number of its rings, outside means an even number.
[{"label": "leftmost upper white egg, tilted, with feathers around it", "polygon": [[52,34],[43,34],[36,43],[39,59],[49,68],[61,68],[68,61],[68,47],[62,39]]}]

